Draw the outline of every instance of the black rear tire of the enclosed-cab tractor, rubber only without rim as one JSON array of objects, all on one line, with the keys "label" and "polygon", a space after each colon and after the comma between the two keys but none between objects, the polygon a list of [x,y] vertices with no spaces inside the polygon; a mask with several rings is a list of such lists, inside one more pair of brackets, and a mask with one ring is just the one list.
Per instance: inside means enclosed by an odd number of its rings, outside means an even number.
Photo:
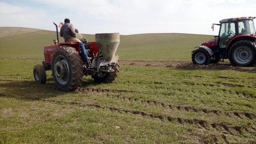
[{"label": "black rear tire of the enclosed-cab tractor, rubber only without rim", "polygon": [[[234,53],[236,53],[236,50],[241,48],[241,47],[246,47],[246,49],[248,49],[249,51],[251,51],[251,58],[248,60],[248,62],[246,63],[242,63],[238,58],[235,58]],[[237,56],[236,56],[237,57]],[[241,65],[244,67],[250,67],[256,64],[256,45],[253,41],[250,40],[240,40],[237,41],[236,43],[234,43],[231,47],[230,47],[230,51],[229,51],[229,61],[230,63],[235,66],[235,65]]]}]

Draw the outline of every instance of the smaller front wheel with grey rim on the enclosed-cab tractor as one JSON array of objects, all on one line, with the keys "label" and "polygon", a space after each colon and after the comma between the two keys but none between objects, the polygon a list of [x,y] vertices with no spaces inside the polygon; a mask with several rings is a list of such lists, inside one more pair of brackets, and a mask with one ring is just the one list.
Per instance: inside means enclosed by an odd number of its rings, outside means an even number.
[{"label": "smaller front wheel with grey rim on the enclosed-cab tractor", "polygon": [[205,49],[196,49],[192,53],[192,62],[197,65],[208,65],[210,63],[210,54]]}]

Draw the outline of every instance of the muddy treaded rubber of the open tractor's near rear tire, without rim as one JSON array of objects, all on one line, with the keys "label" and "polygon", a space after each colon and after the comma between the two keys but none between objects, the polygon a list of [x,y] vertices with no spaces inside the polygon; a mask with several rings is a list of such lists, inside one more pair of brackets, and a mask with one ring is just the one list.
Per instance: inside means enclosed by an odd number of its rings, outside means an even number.
[{"label": "muddy treaded rubber of the open tractor's near rear tire, without rim", "polygon": [[[54,72],[54,62],[57,57],[64,57],[66,59],[67,65],[69,67],[68,71],[68,79],[67,82],[62,84],[58,81],[58,77]],[[64,59],[63,58],[63,59]],[[52,57],[52,77],[58,88],[62,91],[74,91],[78,89],[78,87],[82,86],[82,77],[83,74],[83,63],[81,61],[81,57],[78,55],[78,52],[73,47],[69,47],[67,45],[62,45],[58,47]]]}]

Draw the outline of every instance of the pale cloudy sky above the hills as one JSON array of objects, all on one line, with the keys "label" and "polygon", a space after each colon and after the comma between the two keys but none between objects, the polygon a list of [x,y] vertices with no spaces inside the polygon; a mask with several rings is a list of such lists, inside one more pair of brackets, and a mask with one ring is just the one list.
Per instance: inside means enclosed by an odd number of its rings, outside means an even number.
[{"label": "pale cloudy sky above the hills", "polygon": [[0,0],[0,26],[55,30],[69,18],[80,33],[218,35],[211,24],[256,16],[256,0]]}]

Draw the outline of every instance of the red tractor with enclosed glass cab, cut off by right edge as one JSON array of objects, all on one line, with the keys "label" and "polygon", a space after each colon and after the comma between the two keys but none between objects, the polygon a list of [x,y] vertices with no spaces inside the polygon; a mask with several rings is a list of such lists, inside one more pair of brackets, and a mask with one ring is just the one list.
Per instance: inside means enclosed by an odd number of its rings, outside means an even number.
[{"label": "red tractor with enclosed glass cab, cut off by right edge", "polygon": [[[192,62],[198,65],[217,63],[229,59],[232,65],[253,66],[256,64],[256,32],[253,20],[256,17],[230,18],[220,21],[218,36],[201,43],[192,51]],[[196,47],[195,47],[196,48]]]}]

